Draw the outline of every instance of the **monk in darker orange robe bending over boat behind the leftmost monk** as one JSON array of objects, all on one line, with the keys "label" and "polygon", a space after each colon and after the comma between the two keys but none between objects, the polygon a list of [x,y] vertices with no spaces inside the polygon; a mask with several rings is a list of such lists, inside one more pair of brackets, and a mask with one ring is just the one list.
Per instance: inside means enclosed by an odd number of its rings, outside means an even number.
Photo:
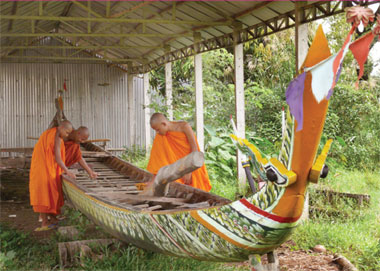
[{"label": "monk in darker orange robe bending over boat behind the leftmost monk", "polygon": [[90,132],[85,126],[80,126],[76,130],[73,129],[73,131],[69,134],[67,140],[65,140],[65,164],[67,167],[70,167],[78,162],[87,171],[91,179],[96,179],[98,177],[98,174],[94,172],[83,159],[79,145],[80,143],[84,143],[89,136]]}]

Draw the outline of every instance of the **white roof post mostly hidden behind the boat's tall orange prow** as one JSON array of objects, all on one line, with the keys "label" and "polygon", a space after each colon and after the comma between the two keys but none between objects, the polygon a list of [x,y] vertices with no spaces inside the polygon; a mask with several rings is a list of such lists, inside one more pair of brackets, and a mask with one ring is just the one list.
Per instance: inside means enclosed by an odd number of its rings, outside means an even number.
[{"label": "white roof post mostly hidden behind the boat's tall orange prow", "polygon": [[[307,23],[300,24],[300,22],[304,19],[304,12],[301,9],[307,2],[296,2],[296,10],[295,10],[295,42],[296,42],[296,71],[299,73],[299,69],[301,68],[303,62],[305,61],[307,51],[309,49],[308,46],[308,37],[307,37]],[[306,192],[305,195],[305,203],[302,212],[301,219],[305,220],[309,218],[309,193]]]}]

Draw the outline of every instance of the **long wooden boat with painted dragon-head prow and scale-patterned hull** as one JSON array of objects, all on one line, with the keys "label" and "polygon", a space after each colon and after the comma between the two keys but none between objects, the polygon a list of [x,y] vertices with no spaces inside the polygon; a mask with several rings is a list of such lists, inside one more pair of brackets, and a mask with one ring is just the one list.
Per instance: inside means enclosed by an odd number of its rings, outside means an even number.
[{"label": "long wooden boat with painted dragon-head prow and scale-patterned hull", "polygon": [[[330,56],[319,28],[305,70],[327,63]],[[302,119],[286,114],[278,159],[262,157],[248,141],[235,138],[239,148],[250,156],[256,176],[266,182],[251,197],[231,202],[179,183],[171,183],[165,197],[141,196],[139,188],[151,174],[90,143],[83,147],[107,156],[87,160],[100,173],[99,178],[89,180],[83,172],[75,181],[64,177],[64,192],[76,208],[113,236],[147,250],[229,262],[271,252],[297,226],[307,186],[318,181],[331,144],[328,141],[317,157],[331,95],[317,101],[310,72],[292,83],[300,81]]]}]

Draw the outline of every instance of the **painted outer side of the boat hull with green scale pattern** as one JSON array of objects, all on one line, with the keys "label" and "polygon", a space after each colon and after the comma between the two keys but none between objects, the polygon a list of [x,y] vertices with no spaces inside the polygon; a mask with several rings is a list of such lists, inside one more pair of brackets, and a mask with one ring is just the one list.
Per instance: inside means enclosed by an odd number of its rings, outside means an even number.
[{"label": "painted outer side of the boat hull with green scale pattern", "polygon": [[66,179],[63,189],[77,209],[114,237],[197,260],[239,262],[273,251],[298,222],[265,212],[249,199],[206,209],[141,212],[90,196]]}]

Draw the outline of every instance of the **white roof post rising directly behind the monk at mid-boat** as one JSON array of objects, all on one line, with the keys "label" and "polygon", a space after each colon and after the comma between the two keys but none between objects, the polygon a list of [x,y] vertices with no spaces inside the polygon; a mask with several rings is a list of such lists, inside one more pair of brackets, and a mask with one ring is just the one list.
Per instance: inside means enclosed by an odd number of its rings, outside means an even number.
[{"label": "white roof post rising directly behind the monk at mid-boat", "polygon": [[[200,33],[194,36],[194,50],[199,52]],[[201,152],[204,152],[204,121],[203,121],[203,77],[202,77],[202,54],[194,55],[195,70],[195,123],[197,131],[198,145]]]}]

